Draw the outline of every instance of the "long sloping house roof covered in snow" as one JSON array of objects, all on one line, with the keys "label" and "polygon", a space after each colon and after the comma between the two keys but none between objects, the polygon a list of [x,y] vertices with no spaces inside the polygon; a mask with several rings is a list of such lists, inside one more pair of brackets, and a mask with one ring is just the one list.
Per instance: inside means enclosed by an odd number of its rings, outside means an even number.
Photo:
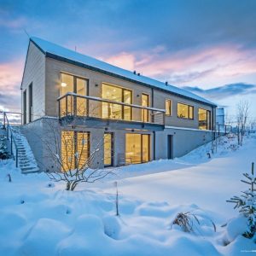
[{"label": "long sloping house roof covered in snow", "polygon": [[115,67],[111,64],[108,64],[107,62],[99,61],[87,55],[82,55],[76,51],[61,47],[60,45],[57,45],[57,44],[50,43],[41,38],[32,37],[30,38],[30,40],[34,44],[36,44],[36,46],[38,46],[38,48],[41,49],[41,51],[43,51],[44,54],[46,55],[49,54],[49,55],[60,56],[61,58],[66,59],[66,61],[69,60],[69,61],[81,63],[81,64],[84,64],[85,66],[94,67],[98,70],[101,70],[104,73],[118,75],[119,77],[122,77],[124,79],[130,79],[132,81],[139,82],[141,84],[152,86],[160,90],[166,90],[174,94],[177,94],[179,96],[185,96],[187,98],[190,98],[199,102],[204,102],[216,107],[215,103],[210,102],[201,96],[197,96],[194,93],[189,92],[188,90],[177,88],[176,86],[173,86],[171,84],[166,85],[166,83],[160,82],[155,79],[150,79],[143,75],[138,76],[137,74],[134,74],[131,71],[125,70],[120,67]]}]

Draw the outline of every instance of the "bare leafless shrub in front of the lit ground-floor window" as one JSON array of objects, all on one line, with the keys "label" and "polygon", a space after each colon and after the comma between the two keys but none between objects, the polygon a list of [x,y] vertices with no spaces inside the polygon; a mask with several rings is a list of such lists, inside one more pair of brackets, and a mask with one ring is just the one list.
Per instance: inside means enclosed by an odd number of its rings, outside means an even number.
[{"label": "bare leafless shrub in front of the lit ground-floor window", "polygon": [[[85,116],[85,111],[84,106],[79,108],[79,117]],[[105,136],[92,140],[88,131],[77,128],[81,125],[77,123],[79,117],[68,123],[68,129],[66,125],[45,119],[47,137],[41,140],[52,165],[47,175],[55,182],[65,182],[66,189],[72,191],[79,183],[94,183],[113,173],[112,169],[100,169],[99,166],[91,168],[95,162],[103,160],[100,152],[109,142]]]}]

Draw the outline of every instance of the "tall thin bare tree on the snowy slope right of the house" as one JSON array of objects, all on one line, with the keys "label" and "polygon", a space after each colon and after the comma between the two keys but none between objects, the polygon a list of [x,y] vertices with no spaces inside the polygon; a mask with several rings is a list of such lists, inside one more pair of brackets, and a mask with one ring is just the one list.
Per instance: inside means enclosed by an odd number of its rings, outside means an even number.
[{"label": "tall thin bare tree on the snowy slope right of the house", "polygon": [[241,100],[236,105],[237,142],[241,146],[242,146],[243,137],[246,131],[248,113],[249,113],[249,103],[246,100]]}]

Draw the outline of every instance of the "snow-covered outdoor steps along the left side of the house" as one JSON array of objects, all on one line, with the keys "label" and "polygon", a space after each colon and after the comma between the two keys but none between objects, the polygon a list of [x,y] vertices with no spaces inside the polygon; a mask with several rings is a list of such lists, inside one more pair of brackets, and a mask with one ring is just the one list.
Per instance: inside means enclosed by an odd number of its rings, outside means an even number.
[{"label": "snow-covered outdoor steps along the left side of the house", "polygon": [[21,125],[10,125],[18,151],[18,166],[22,173],[39,172],[37,161],[34,158],[32,149],[22,132]]}]

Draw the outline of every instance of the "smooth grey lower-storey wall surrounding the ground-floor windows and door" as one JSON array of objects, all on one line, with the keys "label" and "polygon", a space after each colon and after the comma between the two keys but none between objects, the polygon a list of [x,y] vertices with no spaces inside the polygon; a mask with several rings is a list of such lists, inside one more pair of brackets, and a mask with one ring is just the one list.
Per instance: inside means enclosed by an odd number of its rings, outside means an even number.
[{"label": "smooth grey lower-storey wall surrounding the ground-floor windows and door", "polygon": [[[31,145],[36,160],[41,171],[54,171],[56,168],[60,170],[60,166],[56,164],[53,154],[60,154],[61,148],[61,130],[64,131],[89,131],[90,132],[90,154],[94,154],[95,158],[91,163],[92,168],[104,167],[104,128],[84,128],[83,126],[61,127],[58,119],[38,119],[30,124],[23,126],[26,138]],[[154,152],[154,133],[153,131],[125,131],[111,130],[107,132],[113,133],[113,166],[119,166],[125,157],[125,134],[140,133],[150,135],[150,160],[168,158],[168,135],[173,136],[172,155],[180,157],[189,153],[212,140],[211,131],[200,131],[193,129],[166,128],[164,131],[155,132],[155,152]]]}]

